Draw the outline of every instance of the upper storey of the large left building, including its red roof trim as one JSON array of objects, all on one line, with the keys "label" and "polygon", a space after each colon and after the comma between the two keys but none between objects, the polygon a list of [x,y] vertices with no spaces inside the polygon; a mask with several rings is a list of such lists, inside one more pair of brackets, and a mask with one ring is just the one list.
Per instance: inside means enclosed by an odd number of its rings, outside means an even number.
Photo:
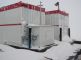
[{"label": "upper storey of the large left building, including its red roof trim", "polygon": [[26,21],[28,24],[45,24],[45,8],[18,2],[0,8],[0,24],[13,24]]}]

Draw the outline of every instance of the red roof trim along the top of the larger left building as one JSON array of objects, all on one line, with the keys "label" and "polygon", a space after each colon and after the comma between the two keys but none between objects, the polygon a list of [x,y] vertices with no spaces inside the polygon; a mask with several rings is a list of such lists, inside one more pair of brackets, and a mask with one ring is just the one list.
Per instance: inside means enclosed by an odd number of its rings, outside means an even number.
[{"label": "red roof trim along the top of the larger left building", "polygon": [[[14,8],[18,8],[18,7],[25,7],[25,8],[28,8],[28,9],[40,11],[40,7],[31,5],[31,4],[26,4],[26,3],[23,3],[23,2],[20,1],[18,3],[12,4],[12,5],[1,7],[0,12],[10,10],[10,9],[14,9]],[[45,8],[41,8],[41,12],[45,12]]]}]

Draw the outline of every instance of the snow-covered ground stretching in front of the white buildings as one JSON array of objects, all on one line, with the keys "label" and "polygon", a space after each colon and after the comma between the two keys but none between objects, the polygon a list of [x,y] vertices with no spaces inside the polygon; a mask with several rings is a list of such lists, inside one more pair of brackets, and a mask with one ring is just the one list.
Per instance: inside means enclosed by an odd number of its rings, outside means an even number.
[{"label": "snow-covered ground stretching in front of the white buildings", "polygon": [[15,49],[7,45],[0,44],[0,60],[67,60],[70,56],[75,56],[81,49],[80,44],[71,44],[72,40],[65,36],[62,42],[56,41],[57,46],[53,46],[45,52],[34,52],[25,49]]}]

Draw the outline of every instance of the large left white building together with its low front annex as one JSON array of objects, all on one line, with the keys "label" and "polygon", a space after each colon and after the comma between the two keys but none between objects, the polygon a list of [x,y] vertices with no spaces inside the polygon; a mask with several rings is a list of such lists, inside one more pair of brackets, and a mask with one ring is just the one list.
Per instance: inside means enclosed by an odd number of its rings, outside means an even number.
[{"label": "large left white building together with its low front annex", "polygon": [[[25,24],[28,27],[33,24],[31,35],[34,37],[37,35],[35,41],[31,39],[31,47],[44,47],[53,43],[54,28],[45,25],[45,8],[41,8],[40,12],[40,7],[23,2],[0,8],[0,43],[29,47],[29,40],[23,39],[23,36],[27,33],[24,32]],[[28,38],[30,37],[28,36]]]}]

